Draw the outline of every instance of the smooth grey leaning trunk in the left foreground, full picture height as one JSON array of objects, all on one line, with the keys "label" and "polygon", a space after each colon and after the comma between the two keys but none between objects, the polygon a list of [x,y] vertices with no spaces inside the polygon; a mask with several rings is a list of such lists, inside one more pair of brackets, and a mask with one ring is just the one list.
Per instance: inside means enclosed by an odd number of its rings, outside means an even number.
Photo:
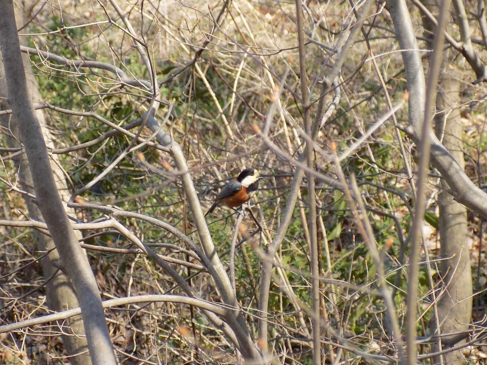
[{"label": "smooth grey leaning trunk in the left foreground, full picture height", "polygon": [[[2,14],[0,17],[0,47],[3,78],[6,81],[9,104],[18,118],[20,140],[23,142],[29,161],[37,205],[79,299],[92,362],[114,365],[115,358],[101,305],[101,297],[88,260],[79,246],[60,199],[44,136],[37,121],[31,95],[28,92],[13,2],[11,0],[0,1],[0,13]],[[17,13],[21,14],[19,11]],[[23,21],[19,21],[19,23],[22,25]]]}]

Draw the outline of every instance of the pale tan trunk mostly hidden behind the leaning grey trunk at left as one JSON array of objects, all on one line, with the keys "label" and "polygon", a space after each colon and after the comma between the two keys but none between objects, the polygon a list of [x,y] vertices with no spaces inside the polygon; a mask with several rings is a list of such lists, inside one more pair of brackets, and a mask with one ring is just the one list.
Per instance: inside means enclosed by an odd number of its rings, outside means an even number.
[{"label": "pale tan trunk mostly hidden behind the leaning grey trunk at left", "polygon": [[[22,3],[19,1],[14,3],[15,6],[15,13],[16,13],[16,20],[17,24],[22,25],[24,24],[24,19],[28,19],[28,14],[24,13],[25,9],[31,8],[30,6],[23,6]],[[25,37],[21,37],[21,43],[25,42]],[[23,44],[25,45],[25,44]],[[29,88],[29,93],[34,102],[41,101],[41,96],[37,87],[37,81],[32,73],[32,69],[30,66],[30,60],[28,55],[22,55],[23,64],[25,67],[25,73],[27,77],[27,83]],[[7,98],[7,85],[5,82],[5,73],[3,69],[3,62],[1,58],[1,51],[0,51],[0,110],[10,109],[8,104],[5,102]],[[10,147],[20,147],[19,144],[19,126],[15,117],[10,115],[3,115],[0,117],[1,125],[4,128],[8,128],[13,136],[7,135],[7,143]],[[44,139],[46,145],[50,148],[54,148],[54,137],[50,133],[49,129],[46,126],[46,121],[44,118],[44,113],[42,110],[36,111],[37,120],[42,128],[42,132],[44,134]],[[15,138],[14,138],[15,136]],[[58,159],[58,155],[53,155],[53,159]],[[14,163],[16,166],[17,171],[19,172],[19,182],[21,188],[29,193],[35,194],[34,187],[32,183],[32,176],[29,170],[29,166],[27,164],[27,158],[25,154],[19,155],[14,159]],[[64,203],[64,208],[66,212],[71,215],[75,216],[75,212],[73,209],[68,208],[66,206],[66,202],[69,199],[69,191],[66,184],[66,179],[63,175],[61,169],[52,161],[51,167],[55,176],[56,185],[59,191],[59,195]],[[15,181],[15,179],[13,179]],[[42,216],[37,208],[37,205],[34,204],[32,199],[26,198],[25,199],[27,209],[29,212],[29,216],[35,220],[43,220]],[[80,232],[75,232],[76,237],[81,238]],[[40,252],[51,250],[55,248],[53,240],[39,233],[37,230],[34,230],[34,236],[36,237],[37,243],[37,250]],[[53,262],[59,260],[59,255],[57,254],[56,250],[53,250],[48,256],[45,256],[40,260],[40,264],[42,267],[42,271],[44,273],[44,277],[49,277],[51,274],[56,271],[56,268],[53,266]],[[75,291],[71,284],[69,278],[59,272],[53,280],[51,280],[46,285],[46,297],[47,303],[51,310],[55,311],[63,311],[67,309],[73,309],[79,307],[78,300],[76,298]],[[84,352],[81,355],[70,357],[69,360],[71,364],[74,365],[90,365],[91,359],[90,355],[87,352],[87,342],[86,338],[84,337],[85,331],[83,327],[83,322],[81,316],[77,318],[71,319],[69,321],[64,321],[63,327],[60,329],[69,334],[69,336],[62,336],[62,341],[65,347],[65,350],[68,356],[73,356],[75,354]]]}]

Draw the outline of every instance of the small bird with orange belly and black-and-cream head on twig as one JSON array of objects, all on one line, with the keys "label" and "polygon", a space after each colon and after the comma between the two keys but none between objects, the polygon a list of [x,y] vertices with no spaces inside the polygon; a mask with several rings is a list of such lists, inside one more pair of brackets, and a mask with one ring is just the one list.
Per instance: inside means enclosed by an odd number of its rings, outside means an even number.
[{"label": "small bird with orange belly and black-and-cream head on twig", "polygon": [[230,180],[217,195],[211,208],[206,212],[205,217],[213,212],[217,205],[225,203],[231,208],[236,208],[250,199],[252,192],[259,187],[259,171],[253,168],[246,168],[239,176]]}]

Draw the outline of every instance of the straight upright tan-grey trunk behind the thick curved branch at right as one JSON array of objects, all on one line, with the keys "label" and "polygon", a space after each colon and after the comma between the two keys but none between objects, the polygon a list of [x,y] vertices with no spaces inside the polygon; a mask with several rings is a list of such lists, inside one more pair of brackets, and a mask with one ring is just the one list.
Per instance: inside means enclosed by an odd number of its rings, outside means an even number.
[{"label": "straight upright tan-grey trunk behind the thick curved branch at right", "polygon": [[[424,3],[432,14],[438,12],[434,2],[424,1]],[[427,37],[434,34],[435,26],[428,18],[423,18],[423,24],[427,30]],[[448,31],[451,33],[451,29]],[[440,74],[436,95],[435,133],[455,161],[462,169],[465,169],[463,141],[461,139],[463,127],[460,124],[460,110],[458,109],[461,103],[461,74],[452,64],[453,58],[454,54],[451,50],[445,53],[445,64],[443,72]],[[440,254],[441,258],[452,257],[441,261],[440,265],[440,275],[444,277],[446,292],[438,300],[438,317],[441,324],[440,331],[446,333],[468,329],[468,326],[462,324],[470,323],[471,320],[473,289],[470,251],[467,244],[467,208],[453,199],[448,192],[450,186],[444,179],[441,179],[441,187],[443,191],[438,196]],[[436,329],[434,319],[431,321],[430,327]],[[452,344],[452,337],[443,337],[443,344],[453,346],[461,343]],[[432,350],[438,351],[439,349],[435,345]],[[460,351],[454,351],[443,355],[443,360],[447,364],[461,365],[464,356]],[[435,363],[440,361],[440,358],[434,359]]]}]

